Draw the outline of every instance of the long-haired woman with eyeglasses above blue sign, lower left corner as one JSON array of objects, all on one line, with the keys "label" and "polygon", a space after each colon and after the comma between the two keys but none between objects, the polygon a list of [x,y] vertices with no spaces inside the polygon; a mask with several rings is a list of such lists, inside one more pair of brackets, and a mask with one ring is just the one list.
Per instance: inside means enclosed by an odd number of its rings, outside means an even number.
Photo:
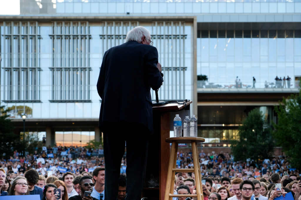
[{"label": "long-haired woman with eyeglasses above blue sign, lower left corner", "polygon": [[17,176],[11,184],[11,188],[8,191],[8,195],[28,195],[29,190],[27,186],[27,180],[25,177]]}]

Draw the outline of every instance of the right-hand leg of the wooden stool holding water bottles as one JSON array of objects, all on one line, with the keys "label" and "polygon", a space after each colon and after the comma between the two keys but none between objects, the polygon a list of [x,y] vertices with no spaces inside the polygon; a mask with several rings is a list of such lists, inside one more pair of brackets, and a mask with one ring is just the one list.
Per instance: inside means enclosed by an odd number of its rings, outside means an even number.
[{"label": "right-hand leg of the wooden stool holding water bottles", "polygon": [[194,176],[195,176],[195,185],[197,190],[197,199],[204,200],[203,197],[203,188],[200,181],[200,163],[199,163],[199,155],[197,154],[197,145],[196,142],[191,143],[192,146],[192,157],[193,157],[193,165],[194,165]]}]

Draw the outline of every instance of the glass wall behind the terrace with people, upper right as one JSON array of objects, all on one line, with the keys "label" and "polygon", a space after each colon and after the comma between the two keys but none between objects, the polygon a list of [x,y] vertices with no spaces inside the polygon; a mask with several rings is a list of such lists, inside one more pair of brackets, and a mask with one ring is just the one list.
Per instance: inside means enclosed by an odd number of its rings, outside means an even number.
[{"label": "glass wall behind the terrace with people, upper right", "polygon": [[255,88],[296,88],[300,30],[202,30],[198,36],[197,74],[208,76],[204,88],[253,88],[253,77]]}]

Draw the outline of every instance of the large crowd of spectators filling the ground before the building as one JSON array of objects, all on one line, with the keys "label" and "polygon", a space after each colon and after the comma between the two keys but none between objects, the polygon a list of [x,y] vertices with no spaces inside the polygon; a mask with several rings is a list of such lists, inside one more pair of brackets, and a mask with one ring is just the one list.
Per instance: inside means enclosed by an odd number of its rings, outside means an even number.
[{"label": "large crowd of spectators filling the ground before the building", "polygon": [[[200,151],[199,162],[203,180],[206,180],[203,185],[204,200],[240,200],[237,194],[243,192],[239,187],[245,180],[255,185],[253,194],[259,199],[252,200],[268,200],[276,183],[282,184],[284,192],[291,190],[295,199],[300,196],[299,170],[292,168],[285,157],[260,162],[234,162],[234,157],[229,153],[205,154]],[[192,153],[179,149],[176,163],[178,168],[193,168]],[[24,157],[15,151],[10,159],[2,159],[0,165],[1,196],[38,194],[41,200],[104,199],[105,161],[101,147],[44,146],[42,151]],[[61,191],[60,197],[56,196],[57,188]],[[175,194],[195,194],[194,173],[177,173],[174,189]],[[235,196],[236,199],[230,199]],[[126,152],[120,166],[116,199],[125,197]]]}]

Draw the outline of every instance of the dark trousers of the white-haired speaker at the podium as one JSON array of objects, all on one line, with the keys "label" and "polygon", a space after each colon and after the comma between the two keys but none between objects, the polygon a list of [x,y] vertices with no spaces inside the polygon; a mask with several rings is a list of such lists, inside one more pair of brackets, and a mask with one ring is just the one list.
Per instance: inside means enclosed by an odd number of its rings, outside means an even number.
[{"label": "dark trousers of the white-haired speaker at the podium", "polygon": [[116,124],[107,125],[103,131],[104,197],[105,200],[117,197],[121,160],[126,144],[126,199],[140,200],[147,163],[149,132],[145,126],[140,124]]}]

